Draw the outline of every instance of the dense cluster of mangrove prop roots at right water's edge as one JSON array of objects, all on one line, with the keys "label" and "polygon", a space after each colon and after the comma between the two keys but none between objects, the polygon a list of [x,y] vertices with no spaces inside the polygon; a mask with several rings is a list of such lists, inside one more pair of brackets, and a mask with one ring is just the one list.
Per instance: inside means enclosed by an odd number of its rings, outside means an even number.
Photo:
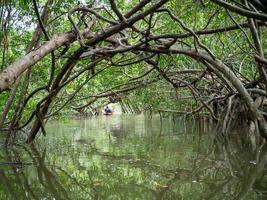
[{"label": "dense cluster of mangrove prop roots at right water's edge", "polygon": [[267,139],[267,122],[265,110],[267,110],[267,98],[261,95],[254,96],[255,106],[261,114],[257,119],[248,111],[247,107],[242,104],[240,97],[236,94],[230,96],[227,101],[214,102],[219,115],[217,130],[224,136],[230,136],[237,130],[242,130],[246,136],[260,135]]}]

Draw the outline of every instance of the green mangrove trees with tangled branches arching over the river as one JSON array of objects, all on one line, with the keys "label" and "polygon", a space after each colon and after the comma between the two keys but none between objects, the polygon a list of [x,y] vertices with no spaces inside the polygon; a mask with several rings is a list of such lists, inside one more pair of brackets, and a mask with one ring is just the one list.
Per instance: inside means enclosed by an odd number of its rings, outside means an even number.
[{"label": "green mangrove trees with tangled branches arching over the river", "polygon": [[267,138],[263,0],[2,1],[0,128],[27,142],[58,115],[209,115]]}]

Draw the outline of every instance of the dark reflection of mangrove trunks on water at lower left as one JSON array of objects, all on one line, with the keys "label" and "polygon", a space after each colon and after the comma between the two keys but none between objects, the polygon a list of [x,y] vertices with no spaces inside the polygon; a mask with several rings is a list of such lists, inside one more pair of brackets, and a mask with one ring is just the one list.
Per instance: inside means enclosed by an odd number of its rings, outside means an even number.
[{"label": "dark reflection of mangrove trunks on water at lower left", "polygon": [[58,171],[67,172],[45,162],[46,149],[14,145],[1,153],[1,199],[71,199],[58,180]]}]

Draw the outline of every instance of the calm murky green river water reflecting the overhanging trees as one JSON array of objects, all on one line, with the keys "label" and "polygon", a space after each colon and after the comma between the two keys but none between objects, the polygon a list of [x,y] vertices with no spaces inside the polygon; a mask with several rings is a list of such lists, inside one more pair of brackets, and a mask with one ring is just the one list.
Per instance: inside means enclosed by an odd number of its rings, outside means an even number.
[{"label": "calm murky green river water reflecting the overhanging trees", "polygon": [[50,122],[0,150],[0,199],[266,199],[267,148],[193,120],[101,116]]}]

